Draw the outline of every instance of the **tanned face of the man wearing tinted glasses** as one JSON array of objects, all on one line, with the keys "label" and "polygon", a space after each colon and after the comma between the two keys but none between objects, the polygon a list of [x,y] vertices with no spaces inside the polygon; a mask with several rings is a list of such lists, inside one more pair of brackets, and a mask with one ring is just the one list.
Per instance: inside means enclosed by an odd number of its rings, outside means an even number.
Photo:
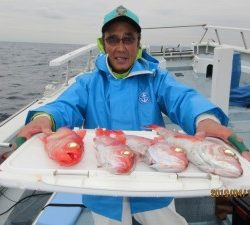
[{"label": "tanned face of the man wearing tinted glasses", "polygon": [[104,48],[109,64],[116,73],[124,73],[133,65],[139,47],[139,34],[128,22],[114,22],[104,33]]}]

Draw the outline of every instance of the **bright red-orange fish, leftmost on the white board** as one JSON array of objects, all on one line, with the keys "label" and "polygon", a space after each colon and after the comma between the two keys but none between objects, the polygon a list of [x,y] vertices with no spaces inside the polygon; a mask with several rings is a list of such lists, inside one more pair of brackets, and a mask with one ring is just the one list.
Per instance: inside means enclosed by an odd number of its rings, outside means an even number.
[{"label": "bright red-orange fish, leftmost on the white board", "polygon": [[61,166],[72,166],[80,162],[84,153],[83,138],[86,130],[59,128],[51,135],[42,137],[44,148],[49,158]]}]

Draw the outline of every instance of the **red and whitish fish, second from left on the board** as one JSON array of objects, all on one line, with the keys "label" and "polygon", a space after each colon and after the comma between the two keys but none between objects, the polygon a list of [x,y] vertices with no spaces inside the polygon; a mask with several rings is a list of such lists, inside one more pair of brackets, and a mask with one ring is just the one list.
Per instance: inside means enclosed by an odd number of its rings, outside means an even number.
[{"label": "red and whitish fish, second from left on the board", "polygon": [[97,128],[93,139],[100,167],[112,174],[128,174],[134,169],[135,153],[125,144],[122,131]]}]

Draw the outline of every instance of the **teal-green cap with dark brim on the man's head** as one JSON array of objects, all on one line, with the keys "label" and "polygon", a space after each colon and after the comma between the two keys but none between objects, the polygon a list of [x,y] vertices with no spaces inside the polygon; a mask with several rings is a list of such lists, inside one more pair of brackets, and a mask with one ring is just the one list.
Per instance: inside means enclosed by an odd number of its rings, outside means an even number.
[{"label": "teal-green cap with dark brim on the man's head", "polygon": [[139,18],[129,9],[126,9],[124,6],[120,5],[108,14],[104,16],[102,32],[105,32],[108,26],[117,20],[123,20],[130,22],[136,30],[140,33],[141,27],[139,25]]}]

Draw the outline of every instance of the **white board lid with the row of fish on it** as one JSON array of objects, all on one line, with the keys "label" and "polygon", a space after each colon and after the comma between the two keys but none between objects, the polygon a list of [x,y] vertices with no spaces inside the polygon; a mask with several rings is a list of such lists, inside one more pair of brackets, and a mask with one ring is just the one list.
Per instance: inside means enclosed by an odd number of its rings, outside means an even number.
[{"label": "white board lid with the row of fish on it", "polygon": [[[153,138],[151,131],[128,131]],[[213,189],[250,189],[250,163],[240,158],[244,174],[240,178],[222,178],[200,171],[189,163],[178,174],[158,172],[143,162],[128,175],[113,175],[98,168],[93,144],[94,130],[84,138],[85,152],[74,166],[64,167],[51,160],[40,135],[32,137],[0,166],[0,184],[44,191],[72,192],[111,196],[206,196]]]}]

